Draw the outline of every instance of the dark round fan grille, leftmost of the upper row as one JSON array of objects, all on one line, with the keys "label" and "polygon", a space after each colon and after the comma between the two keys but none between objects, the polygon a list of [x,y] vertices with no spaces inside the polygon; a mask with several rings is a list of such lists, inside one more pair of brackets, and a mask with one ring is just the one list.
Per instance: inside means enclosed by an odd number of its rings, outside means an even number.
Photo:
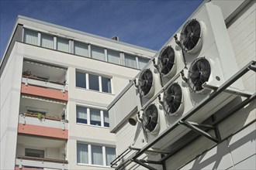
[{"label": "dark round fan grille, leftmost of the upper row", "polygon": [[146,96],[153,86],[153,73],[151,70],[144,70],[139,77],[139,92],[142,96]]}]

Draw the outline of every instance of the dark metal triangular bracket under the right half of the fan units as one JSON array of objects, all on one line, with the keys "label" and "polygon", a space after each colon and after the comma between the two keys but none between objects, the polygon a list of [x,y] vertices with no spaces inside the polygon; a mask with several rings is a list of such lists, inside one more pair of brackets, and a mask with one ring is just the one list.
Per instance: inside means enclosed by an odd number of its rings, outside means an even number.
[{"label": "dark metal triangular bracket under the right half of the fan units", "polygon": [[195,131],[198,134],[201,134],[202,136],[209,138],[210,140],[219,143],[220,142],[220,137],[219,135],[216,134],[216,137],[213,137],[211,134],[207,133],[206,131],[203,131],[201,128],[208,128],[208,129],[213,129],[215,132],[217,131],[217,128],[215,128],[212,125],[209,124],[198,124],[192,121],[179,121],[178,124],[182,124],[187,128],[190,128],[192,131]]}]

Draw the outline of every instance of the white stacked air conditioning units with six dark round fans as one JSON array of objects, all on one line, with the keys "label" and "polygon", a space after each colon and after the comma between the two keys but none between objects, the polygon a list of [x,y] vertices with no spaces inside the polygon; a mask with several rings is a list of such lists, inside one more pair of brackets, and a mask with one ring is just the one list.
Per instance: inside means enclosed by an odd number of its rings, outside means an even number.
[{"label": "white stacked air conditioning units with six dark round fans", "polygon": [[[165,43],[134,82],[138,127],[143,129],[134,146],[153,141],[209,96],[213,91],[204,88],[204,83],[220,87],[237,71],[222,12],[208,2]],[[240,81],[233,87],[243,89]],[[230,100],[233,98],[215,101],[192,121],[201,123]]]}]

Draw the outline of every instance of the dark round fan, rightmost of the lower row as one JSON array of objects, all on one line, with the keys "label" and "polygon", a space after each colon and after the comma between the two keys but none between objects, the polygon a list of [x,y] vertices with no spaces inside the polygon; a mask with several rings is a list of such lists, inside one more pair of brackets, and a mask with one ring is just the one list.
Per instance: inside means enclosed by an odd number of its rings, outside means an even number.
[{"label": "dark round fan, rightmost of the lower row", "polygon": [[189,89],[191,92],[201,92],[202,84],[209,80],[211,66],[209,61],[200,57],[195,59],[189,68]]}]

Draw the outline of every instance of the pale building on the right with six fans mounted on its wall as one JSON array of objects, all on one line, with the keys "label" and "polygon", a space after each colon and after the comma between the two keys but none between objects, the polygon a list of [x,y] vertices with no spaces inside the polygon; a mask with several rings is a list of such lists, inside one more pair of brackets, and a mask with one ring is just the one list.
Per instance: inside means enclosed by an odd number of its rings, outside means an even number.
[{"label": "pale building on the right with six fans mounted on its wall", "polygon": [[255,7],[202,2],[112,101],[113,168],[256,168]]}]

